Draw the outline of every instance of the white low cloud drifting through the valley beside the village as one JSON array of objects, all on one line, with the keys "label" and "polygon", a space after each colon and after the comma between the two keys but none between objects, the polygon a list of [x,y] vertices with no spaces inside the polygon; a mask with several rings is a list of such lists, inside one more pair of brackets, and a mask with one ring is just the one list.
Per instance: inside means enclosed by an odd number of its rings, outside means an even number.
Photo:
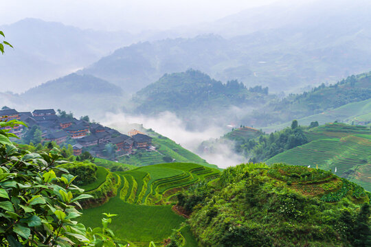
[{"label": "white low cloud drifting through the valley beside the village", "polygon": [[221,137],[226,130],[218,126],[209,126],[202,131],[186,130],[186,124],[174,113],[164,112],[156,117],[108,113],[102,124],[115,128],[122,133],[127,133],[132,128],[135,128],[135,125],[138,127],[139,124],[142,124],[144,128],[151,128],[155,132],[172,139],[183,148],[199,154],[208,163],[218,165],[218,167],[225,168],[244,161],[242,156],[232,151],[232,143],[218,145],[215,149],[217,152],[213,154],[205,154],[205,152],[202,154],[198,153],[197,148],[201,142]]}]

